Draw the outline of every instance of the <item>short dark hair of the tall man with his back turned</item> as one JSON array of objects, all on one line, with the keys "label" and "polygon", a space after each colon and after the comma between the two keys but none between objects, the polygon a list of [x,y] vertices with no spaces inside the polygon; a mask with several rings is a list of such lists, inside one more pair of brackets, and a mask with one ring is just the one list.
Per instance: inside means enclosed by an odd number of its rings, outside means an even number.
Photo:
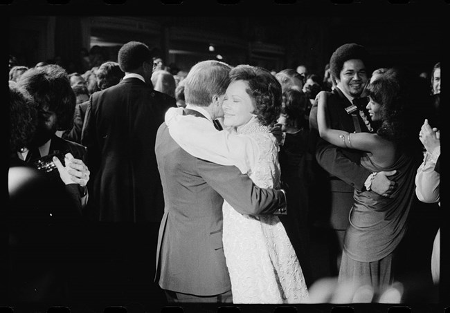
[{"label": "short dark hair of the tall man with his back turned", "polygon": [[129,41],[120,47],[117,59],[123,72],[136,70],[145,61],[152,64],[153,60],[150,48],[140,41]]}]

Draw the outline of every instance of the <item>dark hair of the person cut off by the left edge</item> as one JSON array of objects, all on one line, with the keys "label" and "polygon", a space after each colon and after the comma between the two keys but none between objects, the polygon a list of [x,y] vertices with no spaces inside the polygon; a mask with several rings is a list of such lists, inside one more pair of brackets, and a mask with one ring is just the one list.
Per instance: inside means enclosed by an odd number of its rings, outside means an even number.
[{"label": "dark hair of the person cut off by the left edge", "polygon": [[15,153],[33,140],[37,124],[37,108],[24,93],[21,93],[17,84],[10,84],[9,103],[10,152]]}]

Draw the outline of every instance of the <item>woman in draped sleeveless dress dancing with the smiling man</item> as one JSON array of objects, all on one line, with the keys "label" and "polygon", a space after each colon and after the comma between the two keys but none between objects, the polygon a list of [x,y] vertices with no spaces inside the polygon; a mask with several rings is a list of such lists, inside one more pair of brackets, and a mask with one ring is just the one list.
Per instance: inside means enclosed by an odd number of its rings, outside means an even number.
[{"label": "woman in draped sleeveless dress dancing with the smiling man", "polygon": [[318,131],[342,148],[366,151],[361,165],[372,171],[397,170],[397,189],[387,198],[369,190],[354,191],[350,225],[345,231],[339,281],[369,285],[375,293],[393,283],[393,256],[406,232],[415,192],[415,172],[422,155],[417,133],[422,117],[418,104],[426,97],[413,77],[389,69],[368,85],[374,133],[347,133],[330,129],[327,104],[318,95]]}]

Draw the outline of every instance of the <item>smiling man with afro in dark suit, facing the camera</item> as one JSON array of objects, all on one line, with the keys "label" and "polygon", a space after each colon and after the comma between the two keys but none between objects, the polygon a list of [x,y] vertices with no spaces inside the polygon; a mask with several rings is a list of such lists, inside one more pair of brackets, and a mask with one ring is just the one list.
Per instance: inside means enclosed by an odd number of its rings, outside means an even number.
[{"label": "smiling man with afro in dark suit, facing the camera", "polygon": [[[330,58],[331,75],[336,82],[333,91],[327,93],[327,107],[333,129],[349,133],[372,131],[370,117],[366,109],[368,98],[363,91],[368,84],[366,64],[368,53],[359,44],[344,44],[337,48]],[[322,140],[317,128],[317,99],[309,115],[310,150],[318,163],[317,174],[323,180],[320,190],[316,190],[317,207],[325,208],[323,220],[332,229],[327,238],[330,244],[330,273],[337,275],[345,229],[349,225],[349,212],[353,205],[354,189],[370,189],[379,195],[389,196],[395,182],[388,176],[395,171],[380,172],[376,176],[359,165],[361,151],[341,149]],[[314,201],[314,200],[312,200]],[[337,265],[337,266],[336,266]]]}]

